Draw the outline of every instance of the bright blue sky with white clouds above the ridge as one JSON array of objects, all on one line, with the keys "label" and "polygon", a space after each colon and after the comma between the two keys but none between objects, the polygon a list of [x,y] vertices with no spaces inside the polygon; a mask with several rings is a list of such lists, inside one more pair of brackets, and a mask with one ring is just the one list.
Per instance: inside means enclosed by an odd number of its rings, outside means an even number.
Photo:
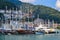
[{"label": "bright blue sky with white clouds above the ridge", "polygon": [[44,5],[60,11],[60,0],[20,0],[34,5]]}]

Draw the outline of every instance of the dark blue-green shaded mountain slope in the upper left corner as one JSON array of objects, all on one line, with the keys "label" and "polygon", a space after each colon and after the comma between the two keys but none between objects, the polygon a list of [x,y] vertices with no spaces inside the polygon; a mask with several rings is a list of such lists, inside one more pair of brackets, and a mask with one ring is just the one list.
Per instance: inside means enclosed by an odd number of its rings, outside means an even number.
[{"label": "dark blue-green shaded mountain slope in the upper left corner", "polygon": [[0,9],[6,9],[6,6],[7,6],[7,9],[16,9],[18,8],[19,9],[19,5],[22,4],[21,1],[17,1],[17,0],[0,0]]}]

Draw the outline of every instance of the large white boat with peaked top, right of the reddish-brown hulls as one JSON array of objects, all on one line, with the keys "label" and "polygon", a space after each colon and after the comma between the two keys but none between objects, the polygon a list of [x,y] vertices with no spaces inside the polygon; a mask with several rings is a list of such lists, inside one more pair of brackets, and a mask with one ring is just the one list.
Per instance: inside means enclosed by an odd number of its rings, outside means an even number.
[{"label": "large white boat with peaked top, right of the reddish-brown hulls", "polygon": [[36,34],[41,34],[41,31],[42,31],[42,34],[51,34],[51,33],[58,33],[58,31],[56,31],[56,29],[54,28],[49,28],[49,27],[45,27],[43,26],[42,24],[40,24],[38,27],[35,27],[35,32]]}]

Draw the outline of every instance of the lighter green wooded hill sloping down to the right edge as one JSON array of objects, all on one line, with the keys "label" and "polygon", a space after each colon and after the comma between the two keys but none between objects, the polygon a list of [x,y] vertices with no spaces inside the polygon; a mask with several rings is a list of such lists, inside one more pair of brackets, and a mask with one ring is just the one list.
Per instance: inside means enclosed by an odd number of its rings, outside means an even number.
[{"label": "lighter green wooded hill sloping down to the right edge", "polygon": [[[23,3],[22,5],[22,10],[25,13],[28,13],[28,11],[32,12],[32,15],[35,17],[33,18],[34,20],[38,17],[44,20],[54,20],[57,23],[60,23],[60,12],[56,9],[43,6],[43,5],[33,5],[29,3]],[[32,19],[32,18],[30,18]]]}]

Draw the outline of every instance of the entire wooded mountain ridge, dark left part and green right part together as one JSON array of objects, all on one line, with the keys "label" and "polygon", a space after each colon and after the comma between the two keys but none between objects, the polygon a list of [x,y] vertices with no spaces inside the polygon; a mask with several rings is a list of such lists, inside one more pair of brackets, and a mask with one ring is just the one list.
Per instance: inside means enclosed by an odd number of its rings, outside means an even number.
[{"label": "entire wooded mountain ridge, dark left part and green right part together", "polygon": [[[32,16],[30,19],[36,19],[39,15],[39,18],[44,20],[54,20],[55,22],[60,23],[60,12],[56,9],[43,6],[43,5],[33,5],[30,3],[23,3],[18,0],[0,0],[0,9],[5,9],[5,6],[8,6],[8,9],[11,8],[18,8],[24,13],[32,13]],[[25,17],[26,18],[26,17]],[[26,18],[27,19],[27,18]]]}]

